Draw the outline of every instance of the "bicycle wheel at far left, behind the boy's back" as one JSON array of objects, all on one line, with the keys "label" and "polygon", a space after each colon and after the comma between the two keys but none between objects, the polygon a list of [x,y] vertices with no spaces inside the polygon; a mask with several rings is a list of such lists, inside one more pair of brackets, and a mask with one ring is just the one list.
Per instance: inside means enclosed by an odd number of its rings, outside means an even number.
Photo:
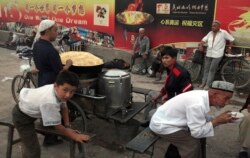
[{"label": "bicycle wheel at far left, behind the boy's back", "polygon": [[19,102],[19,93],[23,87],[27,87],[24,77],[22,75],[16,75],[11,83],[11,93],[17,104]]}]

